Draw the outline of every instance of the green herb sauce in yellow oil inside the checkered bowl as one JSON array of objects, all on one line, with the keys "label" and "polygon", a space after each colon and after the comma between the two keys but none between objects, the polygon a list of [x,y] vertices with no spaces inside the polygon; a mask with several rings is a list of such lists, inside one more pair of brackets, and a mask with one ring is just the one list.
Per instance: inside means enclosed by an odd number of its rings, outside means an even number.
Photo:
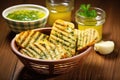
[{"label": "green herb sauce in yellow oil inside the checkered bowl", "polygon": [[16,10],[7,15],[8,18],[18,21],[32,21],[43,18],[45,13],[38,10]]}]

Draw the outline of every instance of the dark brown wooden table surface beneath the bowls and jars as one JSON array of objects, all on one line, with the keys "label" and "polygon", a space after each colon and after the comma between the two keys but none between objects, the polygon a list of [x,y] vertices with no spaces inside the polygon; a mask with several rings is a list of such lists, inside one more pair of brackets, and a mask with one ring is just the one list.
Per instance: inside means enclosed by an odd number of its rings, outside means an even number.
[{"label": "dark brown wooden table surface beneath the bowls and jars", "polygon": [[[45,0],[2,0],[0,12],[12,5],[33,3],[45,6]],[[0,80],[120,80],[120,2],[119,0],[75,0],[74,12],[82,3],[90,3],[106,12],[103,40],[115,42],[109,55],[91,51],[82,65],[64,75],[46,76],[30,71],[13,54],[10,42],[15,36],[0,15]],[[74,22],[74,14],[73,14]]]}]

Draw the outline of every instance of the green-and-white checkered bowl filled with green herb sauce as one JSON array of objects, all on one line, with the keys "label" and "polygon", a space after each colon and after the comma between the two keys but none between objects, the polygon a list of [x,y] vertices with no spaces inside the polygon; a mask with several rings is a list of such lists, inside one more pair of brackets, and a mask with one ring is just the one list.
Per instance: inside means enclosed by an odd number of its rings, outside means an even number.
[{"label": "green-and-white checkered bowl filled with green herb sauce", "polygon": [[45,27],[49,10],[41,5],[19,4],[6,8],[2,12],[2,16],[10,29],[18,33]]}]

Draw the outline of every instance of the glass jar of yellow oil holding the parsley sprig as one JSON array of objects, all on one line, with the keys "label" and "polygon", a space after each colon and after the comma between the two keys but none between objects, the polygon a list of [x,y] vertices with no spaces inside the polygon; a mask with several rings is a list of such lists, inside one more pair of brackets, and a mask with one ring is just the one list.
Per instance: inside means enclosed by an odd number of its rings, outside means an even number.
[{"label": "glass jar of yellow oil holding the parsley sprig", "polygon": [[91,7],[90,9],[96,10],[97,16],[95,18],[84,17],[79,15],[82,10],[77,10],[75,13],[75,21],[78,24],[79,30],[85,30],[87,28],[94,28],[98,31],[100,39],[102,39],[102,28],[105,22],[105,11],[101,8]]}]

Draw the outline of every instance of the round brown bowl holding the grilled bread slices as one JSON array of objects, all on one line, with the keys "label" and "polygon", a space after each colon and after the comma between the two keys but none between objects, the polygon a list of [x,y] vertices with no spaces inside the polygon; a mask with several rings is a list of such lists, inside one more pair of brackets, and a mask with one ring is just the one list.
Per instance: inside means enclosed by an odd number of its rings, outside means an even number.
[{"label": "round brown bowl holding the grilled bread slices", "polygon": [[[40,28],[36,30],[39,30],[49,35],[51,28]],[[62,74],[69,72],[70,70],[75,68],[78,64],[81,64],[81,62],[83,62],[84,59],[89,55],[91,49],[93,49],[93,47],[88,47],[86,50],[84,50],[83,52],[81,52],[76,56],[60,59],[60,60],[48,61],[48,60],[34,59],[21,54],[18,51],[17,45],[15,43],[15,39],[12,40],[11,47],[15,55],[21,60],[21,62],[26,67],[42,74]]]}]

